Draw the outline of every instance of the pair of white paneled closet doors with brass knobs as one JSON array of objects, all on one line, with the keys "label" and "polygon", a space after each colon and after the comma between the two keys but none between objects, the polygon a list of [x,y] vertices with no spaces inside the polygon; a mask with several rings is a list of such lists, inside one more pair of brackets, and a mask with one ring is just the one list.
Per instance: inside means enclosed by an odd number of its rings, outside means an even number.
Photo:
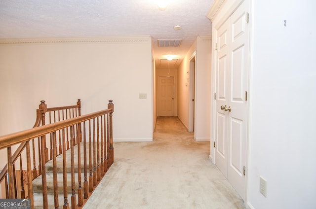
[{"label": "pair of white paneled closet doors with brass knobs", "polygon": [[227,176],[242,199],[245,198],[246,188],[244,169],[248,133],[246,97],[249,71],[249,24],[246,19],[247,9],[247,1],[244,1],[219,27],[216,64],[218,82],[216,165]]}]

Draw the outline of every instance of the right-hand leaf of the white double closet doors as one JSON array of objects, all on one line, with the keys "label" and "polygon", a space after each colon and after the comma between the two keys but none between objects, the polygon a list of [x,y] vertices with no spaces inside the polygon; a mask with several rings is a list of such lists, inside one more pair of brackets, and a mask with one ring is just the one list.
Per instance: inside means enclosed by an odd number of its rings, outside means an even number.
[{"label": "right-hand leaf of the white double closet doors", "polygon": [[249,24],[247,4],[243,2],[230,17],[230,98],[228,106],[227,178],[242,199],[245,198],[245,172],[248,133]]}]

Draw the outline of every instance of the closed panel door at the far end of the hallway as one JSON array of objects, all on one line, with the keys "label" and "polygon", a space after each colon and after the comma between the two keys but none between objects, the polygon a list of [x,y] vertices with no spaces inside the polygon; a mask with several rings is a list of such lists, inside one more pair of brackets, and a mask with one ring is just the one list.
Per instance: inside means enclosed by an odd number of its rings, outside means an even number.
[{"label": "closed panel door at the far end of the hallway", "polygon": [[158,79],[157,116],[173,116],[174,81],[172,76],[160,76]]}]

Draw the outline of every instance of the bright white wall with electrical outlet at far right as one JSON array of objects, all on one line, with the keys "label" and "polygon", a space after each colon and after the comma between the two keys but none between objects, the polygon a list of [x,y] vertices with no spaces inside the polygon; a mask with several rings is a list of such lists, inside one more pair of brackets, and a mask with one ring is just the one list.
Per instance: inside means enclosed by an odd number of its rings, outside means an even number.
[{"label": "bright white wall with electrical outlet at far right", "polygon": [[[316,1],[251,2],[247,205],[312,209],[316,207]],[[259,193],[259,176],[268,181],[267,197]]]}]

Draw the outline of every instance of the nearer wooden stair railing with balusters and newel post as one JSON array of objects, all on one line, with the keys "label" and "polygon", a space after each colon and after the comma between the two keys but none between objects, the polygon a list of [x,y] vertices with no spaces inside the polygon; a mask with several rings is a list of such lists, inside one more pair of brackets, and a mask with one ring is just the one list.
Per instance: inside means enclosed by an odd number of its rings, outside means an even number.
[{"label": "nearer wooden stair railing with balusters and newel post", "polygon": [[[7,174],[5,175],[5,184],[8,188],[7,198],[18,198],[16,194],[16,181],[15,181],[15,164],[13,161],[11,147],[16,144],[25,143],[26,149],[20,151],[18,156],[20,161],[20,167],[22,166],[22,161],[26,161],[26,184],[21,183],[21,197],[24,193],[25,186],[27,190],[25,191],[25,198],[31,199],[31,208],[34,206],[33,198],[33,175],[31,159],[34,159],[34,152],[31,152],[31,148],[34,149],[36,145],[33,140],[40,138],[40,158],[46,159],[47,151],[45,151],[46,137],[51,140],[51,150],[50,156],[52,159],[53,167],[53,194],[54,194],[54,207],[59,208],[58,201],[58,191],[63,191],[64,194],[64,204],[62,208],[68,209],[71,205],[72,209],[77,207],[82,207],[85,201],[93,192],[94,188],[97,186],[99,181],[102,179],[104,174],[107,172],[109,167],[114,162],[114,148],[113,148],[113,123],[112,123],[112,113],[114,111],[114,104],[112,100],[109,101],[108,109],[86,114],[83,116],[78,115],[74,118],[69,118],[63,121],[53,122],[51,124],[42,125],[40,127],[35,127],[26,131],[6,135],[0,137],[0,149],[7,149]],[[86,125],[88,124],[88,126]],[[91,125],[92,124],[92,125]],[[83,134],[81,133],[83,130]],[[70,147],[67,146],[67,132],[70,134]],[[32,144],[30,142],[32,141]],[[57,145],[57,141],[59,144]],[[83,156],[80,156],[81,145],[83,145]],[[70,159],[67,158],[66,150],[70,148],[71,156]],[[78,150],[78,157],[75,159],[75,149]],[[63,161],[63,177],[62,179],[57,179],[57,155],[58,150],[62,155],[58,156],[62,158]],[[87,153],[88,152],[88,153]],[[33,156],[32,156],[33,155]],[[83,158],[83,165],[81,162],[81,157]],[[77,163],[77,168],[75,166],[75,160]],[[71,161],[71,165],[68,166],[67,162]],[[33,163],[34,164],[34,163]],[[34,165],[33,165],[34,167]],[[41,182],[42,182],[42,208],[48,208],[48,198],[47,198],[47,180],[46,180],[46,163],[41,164]],[[69,168],[71,167],[71,168]],[[23,170],[24,168],[20,168]],[[81,185],[81,169],[83,169],[83,188]],[[88,176],[89,170],[89,176]],[[67,173],[71,171],[71,202],[68,202],[68,191],[67,191]],[[75,176],[75,172],[77,175]],[[21,174],[23,176],[23,174]],[[77,177],[77,178],[76,178]],[[22,177],[21,177],[22,178]],[[76,180],[75,180],[76,178]],[[58,189],[58,181],[63,181],[63,189]],[[75,184],[78,184],[76,189]],[[78,200],[78,203],[77,203]]]}]

